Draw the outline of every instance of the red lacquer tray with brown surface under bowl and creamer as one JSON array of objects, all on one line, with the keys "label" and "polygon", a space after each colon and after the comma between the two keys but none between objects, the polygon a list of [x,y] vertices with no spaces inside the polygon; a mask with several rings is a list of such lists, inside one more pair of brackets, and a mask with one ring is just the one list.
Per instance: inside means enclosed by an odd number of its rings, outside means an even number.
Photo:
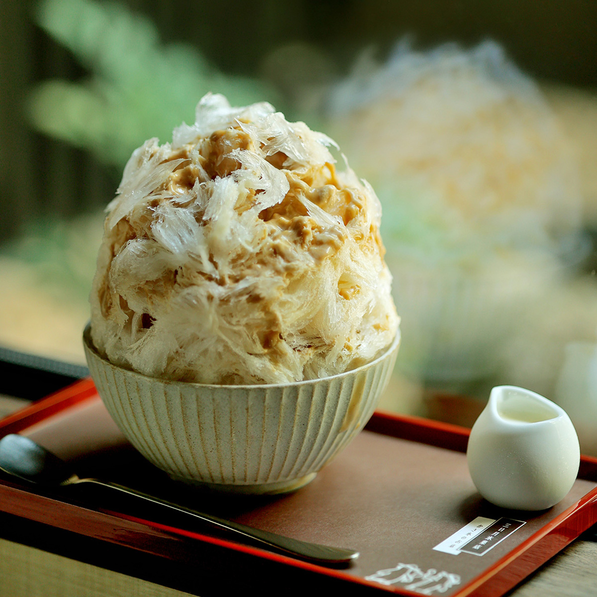
[{"label": "red lacquer tray with brown surface under bowl and creamer", "polygon": [[99,565],[201,595],[221,594],[223,586],[503,595],[597,522],[596,458],[582,457],[574,487],[553,508],[504,510],[483,500],[470,480],[467,429],[389,413],[374,414],[313,482],[279,497],[214,496],[171,481],[127,444],[91,380],[0,421],[0,436],[16,432],[72,460],[79,476],[101,475],[222,518],[361,552],[350,567],[322,567],[113,496],[0,478],[4,516],[22,528],[36,525],[33,534],[66,533],[70,556],[90,553],[93,544]]}]

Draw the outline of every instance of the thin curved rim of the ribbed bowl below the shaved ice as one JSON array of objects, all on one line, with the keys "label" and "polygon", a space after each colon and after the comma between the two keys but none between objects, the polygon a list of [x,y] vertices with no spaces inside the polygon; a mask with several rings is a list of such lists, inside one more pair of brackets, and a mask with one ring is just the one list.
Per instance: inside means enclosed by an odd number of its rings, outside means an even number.
[{"label": "thin curved rim of the ribbed bowl below the shaved ice", "polygon": [[399,346],[400,342],[401,342],[401,330],[400,330],[400,327],[398,326],[398,328],[396,328],[396,334],[395,334],[392,342],[389,344],[389,346],[386,347],[386,349],[379,356],[377,356],[377,358],[373,359],[373,361],[369,361],[368,363],[365,363],[364,365],[361,365],[360,367],[356,367],[355,369],[350,369],[348,371],[343,371],[342,373],[337,373],[336,375],[333,375],[333,376],[318,377],[316,379],[306,379],[306,380],[300,380],[300,381],[287,381],[287,382],[283,382],[283,383],[260,383],[260,384],[257,384],[257,383],[217,384],[216,383],[216,384],[214,384],[214,383],[199,383],[197,381],[180,381],[180,380],[173,380],[173,379],[165,379],[165,378],[161,378],[161,377],[152,377],[152,376],[148,376],[144,373],[139,373],[139,371],[134,371],[132,369],[128,369],[127,367],[122,367],[122,365],[115,365],[112,362],[110,362],[107,358],[105,358],[104,356],[101,356],[99,352],[97,352],[97,349],[94,346],[93,341],[91,340],[91,321],[87,322],[87,324],[85,325],[85,328],[83,330],[83,344],[84,344],[85,348],[87,350],[89,350],[104,365],[108,365],[109,367],[113,367],[115,369],[124,371],[127,375],[139,376],[146,380],[156,381],[158,383],[182,384],[182,385],[188,386],[188,387],[201,387],[201,388],[205,388],[205,389],[224,388],[224,389],[247,390],[247,389],[253,389],[253,388],[254,389],[266,389],[266,388],[275,388],[275,387],[281,388],[281,387],[289,387],[289,386],[307,386],[309,384],[314,384],[319,381],[334,380],[337,378],[346,377],[350,374],[359,373],[359,371],[362,371],[362,370],[365,370],[368,368],[375,367],[381,361],[383,361],[388,356],[390,356],[393,352],[395,352],[395,350],[398,350],[398,346]]}]

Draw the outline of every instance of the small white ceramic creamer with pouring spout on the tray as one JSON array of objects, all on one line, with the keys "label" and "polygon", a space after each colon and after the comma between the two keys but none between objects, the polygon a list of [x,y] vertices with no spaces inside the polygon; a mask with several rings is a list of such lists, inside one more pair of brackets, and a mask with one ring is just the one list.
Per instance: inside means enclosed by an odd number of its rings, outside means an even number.
[{"label": "small white ceramic creamer with pouring spout on the tray", "polygon": [[543,510],[574,484],[578,436],[557,404],[521,387],[497,386],[470,431],[467,461],[486,500],[516,510]]}]

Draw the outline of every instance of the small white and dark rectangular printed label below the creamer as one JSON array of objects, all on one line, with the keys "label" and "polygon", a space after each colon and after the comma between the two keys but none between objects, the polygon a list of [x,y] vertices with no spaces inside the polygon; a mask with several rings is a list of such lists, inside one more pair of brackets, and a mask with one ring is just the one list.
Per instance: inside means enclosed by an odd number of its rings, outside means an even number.
[{"label": "small white and dark rectangular printed label below the creamer", "polygon": [[482,556],[524,524],[513,518],[495,520],[478,516],[433,549],[452,555],[464,552]]}]

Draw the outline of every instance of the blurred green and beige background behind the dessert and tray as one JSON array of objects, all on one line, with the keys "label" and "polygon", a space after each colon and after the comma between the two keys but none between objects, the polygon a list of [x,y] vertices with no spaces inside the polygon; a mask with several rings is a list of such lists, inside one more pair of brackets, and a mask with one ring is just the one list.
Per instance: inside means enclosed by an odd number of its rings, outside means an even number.
[{"label": "blurred green and beige background behind the dessert and tray", "polygon": [[597,3],[1,8],[0,347],[84,364],[131,152],[208,91],[267,100],[336,139],[382,202],[403,339],[380,406],[472,424],[515,384],[597,453]]}]

